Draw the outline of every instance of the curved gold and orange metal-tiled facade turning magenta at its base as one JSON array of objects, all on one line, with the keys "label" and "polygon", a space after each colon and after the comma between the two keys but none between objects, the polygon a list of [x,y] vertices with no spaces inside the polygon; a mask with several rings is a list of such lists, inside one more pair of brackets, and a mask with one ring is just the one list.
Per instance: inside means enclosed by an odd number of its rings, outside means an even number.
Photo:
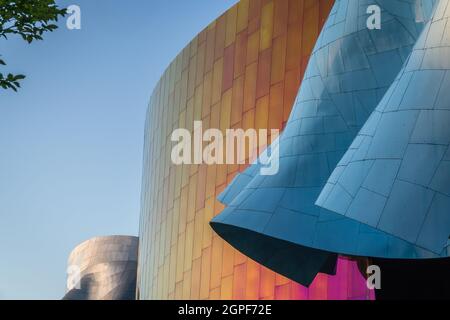
[{"label": "curved gold and orange metal-tiled facade turning magenta at its base", "polygon": [[[216,197],[245,165],[171,161],[178,128],[282,129],[333,0],[242,0],[176,57],[147,112],[141,198],[140,299],[365,299],[357,266],[309,289],[248,259],[209,226]],[[343,276],[342,276],[343,275]]]}]

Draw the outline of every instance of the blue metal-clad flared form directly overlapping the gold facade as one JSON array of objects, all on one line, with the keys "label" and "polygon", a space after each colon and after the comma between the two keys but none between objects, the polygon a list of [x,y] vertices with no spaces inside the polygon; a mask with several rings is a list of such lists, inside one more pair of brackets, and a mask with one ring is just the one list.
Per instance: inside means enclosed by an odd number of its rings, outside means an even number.
[{"label": "blue metal-clad flared form directly overlapping the gold facade", "polygon": [[380,30],[366,25],[371,4],[335,2],[287,126],[271,147],[279,150],[278,174],[262,176],[258,164],[240,174],[219,198],[227,208],[211,222],[243,253],[304,285],[329,272],[336,254],[366,256],[379,242],[389,243],[387,257],[413,249],[395,235],[315,205],[411,54],[434,2],[373,1],[382,10]]}]

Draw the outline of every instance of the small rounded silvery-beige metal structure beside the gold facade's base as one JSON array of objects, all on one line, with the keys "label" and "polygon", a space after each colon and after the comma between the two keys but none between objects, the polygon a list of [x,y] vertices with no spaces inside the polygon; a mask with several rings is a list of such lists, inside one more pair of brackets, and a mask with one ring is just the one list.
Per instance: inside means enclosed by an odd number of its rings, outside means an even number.
[{"label": "small rounded silvery-beige metal structure beside the gold facade's base", "polygon": [[63,300],[135,300],[137,237],[110,236],[85,241],[68,260]]}]

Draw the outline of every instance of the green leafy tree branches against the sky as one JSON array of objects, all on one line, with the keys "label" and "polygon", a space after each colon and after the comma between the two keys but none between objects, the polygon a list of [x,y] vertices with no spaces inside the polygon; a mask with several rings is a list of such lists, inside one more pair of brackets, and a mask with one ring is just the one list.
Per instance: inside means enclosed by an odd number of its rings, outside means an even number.
[{"label": "green leafy tree branches against the sky", "polygon": [[[43,40],[45,32],[58,27],[55,22],[66,15],[66,9],[60,9],[54,0],[0,0],[0,38],[19,35],[28,43]],[[0,65],[5,66],[0,59]],[[0,87],[17,91],[24,75],[4,75],[0,72]]]}]

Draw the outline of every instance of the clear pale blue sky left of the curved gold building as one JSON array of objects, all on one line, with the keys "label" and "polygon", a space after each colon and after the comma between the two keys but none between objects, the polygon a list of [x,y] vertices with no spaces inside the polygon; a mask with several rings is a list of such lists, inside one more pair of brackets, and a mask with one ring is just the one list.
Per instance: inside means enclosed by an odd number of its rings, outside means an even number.
[{"label": "clear pale blue sky left of the curved gold building", "polygon": [[74,0],[82,29],[0,41],[0,299],[60,299],[66,261],[137,235],[144,115],[176,54],[236,0]]}]

